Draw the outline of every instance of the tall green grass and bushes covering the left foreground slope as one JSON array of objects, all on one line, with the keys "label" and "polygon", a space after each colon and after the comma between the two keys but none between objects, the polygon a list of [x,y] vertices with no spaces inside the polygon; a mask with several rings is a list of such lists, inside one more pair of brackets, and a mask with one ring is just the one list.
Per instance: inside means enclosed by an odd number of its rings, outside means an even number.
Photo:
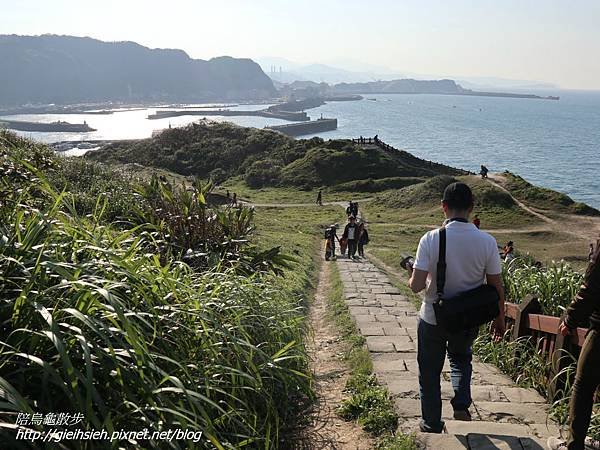
[{"label": "tall green grass and bushes covering the left foreground slope", "polygon": [[[211,207],[206,186],[154,179],[136,183],[119,222],[105,195],[83,214],[91,205],[80,211],[76,198],[96,184],[60,193],[51,181],[75,179],[77,166],[1,138],[0,422],[68,411],[88,430],[203,432],[172,448],[277,447],[313,395],[306,288],[275,276],[291,263],[277,249],[248,242],[251,213]],[[10,428],[0,434],[25,447]]]}]

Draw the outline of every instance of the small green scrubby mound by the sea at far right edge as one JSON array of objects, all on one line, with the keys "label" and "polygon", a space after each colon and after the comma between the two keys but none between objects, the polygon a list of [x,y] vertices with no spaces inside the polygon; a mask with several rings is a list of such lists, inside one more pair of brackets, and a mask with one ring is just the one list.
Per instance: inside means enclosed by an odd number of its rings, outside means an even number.
[{"label": "small green scrubby mound by the sea at far right edge", "polygon": [[587,216],[600,215],[600,211],[584,203],[575,202],[571,197],[551,189],[534,186],[518,175],[504,172],[505,187],[512,195],[529,206],[558,212]]}]

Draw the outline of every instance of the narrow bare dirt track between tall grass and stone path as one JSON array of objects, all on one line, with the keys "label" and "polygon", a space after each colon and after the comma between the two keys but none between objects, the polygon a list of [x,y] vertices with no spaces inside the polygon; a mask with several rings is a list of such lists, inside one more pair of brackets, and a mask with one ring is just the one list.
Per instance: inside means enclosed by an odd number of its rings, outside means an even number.
[{"label": "narrow bare dirt track between tall grass and stone path", "polygon": [[315,380],[317,401],[308,417],[308,425],[300,432],[296,449],[367,450],[374,441],[358,424],[339,418],[335,409],[346,397],[343,390],[350,370],[343,360],[346,344],[327,314],[330,288],[330,265],[324,263],[314,303],[310,308],[313,340],[309,345],[311,371]]}]

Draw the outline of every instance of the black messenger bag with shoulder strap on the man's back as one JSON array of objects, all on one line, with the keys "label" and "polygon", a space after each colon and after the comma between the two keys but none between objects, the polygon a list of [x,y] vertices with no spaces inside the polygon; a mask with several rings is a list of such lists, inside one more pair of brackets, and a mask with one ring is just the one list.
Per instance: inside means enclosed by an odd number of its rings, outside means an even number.
[{"label": "black messenger bag with shoulder strap on the man's back", "polygon": [[482,284],[475,289],[444,298],[446,284],[446,228],[440,229],[440,254],[437,263],[437,300],[433,304],[438,325],[457,333],[491,322],[500,314],[498,291]]}]

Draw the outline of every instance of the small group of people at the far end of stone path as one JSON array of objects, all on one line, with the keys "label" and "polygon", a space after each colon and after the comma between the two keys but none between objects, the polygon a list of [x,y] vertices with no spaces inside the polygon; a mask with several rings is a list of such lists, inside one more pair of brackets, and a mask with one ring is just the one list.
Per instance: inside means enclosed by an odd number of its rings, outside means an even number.
[{"label": "small group of people at the far end of stone path", "polygon": [[[337,236],[338,224],[325,230],[325,260],[335,259],[336,241],[340,245],[340,253],[356,260],[365,257],[365,245],[369,243],[369,231],[363,220],[358,220],[358,203],[350,202],[346,208],[348,223],[344,227],[341,238]],[[356,253],[358,252],[358,256]]]}]

